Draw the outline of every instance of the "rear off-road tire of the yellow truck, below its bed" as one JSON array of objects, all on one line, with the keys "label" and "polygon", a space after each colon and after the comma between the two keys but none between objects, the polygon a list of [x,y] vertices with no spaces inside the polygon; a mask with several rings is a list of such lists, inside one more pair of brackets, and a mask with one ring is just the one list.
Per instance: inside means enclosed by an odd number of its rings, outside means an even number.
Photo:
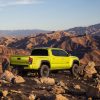
[{"label": "rear off-road tire of the yellow truck, below its bed", "polygon": [[50,68],[48,65],[42,65],[38,71],[39,77],[48,77],[50,74]]}]

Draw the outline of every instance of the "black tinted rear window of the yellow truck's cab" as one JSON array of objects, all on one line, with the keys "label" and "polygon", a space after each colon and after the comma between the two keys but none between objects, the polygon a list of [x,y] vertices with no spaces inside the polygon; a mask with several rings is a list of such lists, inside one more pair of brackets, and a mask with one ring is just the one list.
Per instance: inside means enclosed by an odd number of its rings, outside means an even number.
[{"label": "black tinted rear window of the yellow truck's cab", "polygon": [[31,53],[32,56],[48,56],[48,50],[46,49],[34,49]]}]

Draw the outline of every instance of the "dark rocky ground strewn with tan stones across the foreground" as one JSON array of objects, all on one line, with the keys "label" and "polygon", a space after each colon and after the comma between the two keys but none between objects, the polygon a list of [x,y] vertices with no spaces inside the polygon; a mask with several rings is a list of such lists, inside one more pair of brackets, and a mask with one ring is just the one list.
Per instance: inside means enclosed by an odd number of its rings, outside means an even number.
[{"label": "dark rocky ground strewn with tan stones across the foreground", "polygon": [[2,84],[2,100],[100,100],[100,80],[95,77],[75,78],[69,71],[60,71],[50,78],[28,74],[24,79],[21,84]]}]

